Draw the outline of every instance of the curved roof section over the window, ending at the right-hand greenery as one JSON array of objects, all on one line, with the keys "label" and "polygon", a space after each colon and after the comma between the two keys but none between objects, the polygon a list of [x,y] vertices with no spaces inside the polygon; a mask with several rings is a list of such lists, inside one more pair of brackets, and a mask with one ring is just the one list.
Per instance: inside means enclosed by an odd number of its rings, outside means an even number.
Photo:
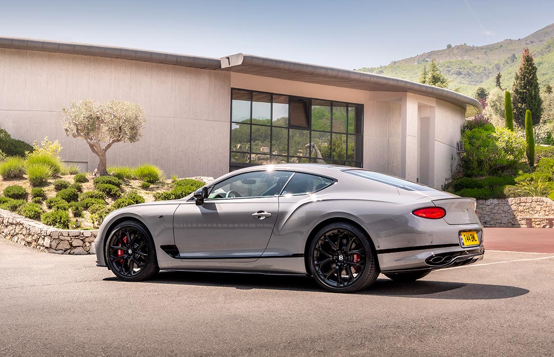
[{"label": "curved roof section over the window, ending at the right-hand greenery", "polygon": [[394,77],[242,53],[225,56],[220,60],[222,69],[239,73],[265,75],[352,89],[410,92],[457,105],[465,110],[466,117],[477,115],[483,111],[479,101],[474,98],[448,89]]}]

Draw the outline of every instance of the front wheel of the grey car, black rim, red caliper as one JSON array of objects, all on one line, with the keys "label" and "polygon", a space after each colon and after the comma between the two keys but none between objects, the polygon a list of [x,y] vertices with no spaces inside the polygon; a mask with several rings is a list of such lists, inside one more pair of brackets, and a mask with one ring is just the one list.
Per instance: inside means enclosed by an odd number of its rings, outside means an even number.
[{"label": "front wheel of the grey car, black rim, red caliper", "polygon": [[124,281],[148,280],[160,271],[152,235],[135,220],[114,227],[106,240],[104,254],[107,266]]}]

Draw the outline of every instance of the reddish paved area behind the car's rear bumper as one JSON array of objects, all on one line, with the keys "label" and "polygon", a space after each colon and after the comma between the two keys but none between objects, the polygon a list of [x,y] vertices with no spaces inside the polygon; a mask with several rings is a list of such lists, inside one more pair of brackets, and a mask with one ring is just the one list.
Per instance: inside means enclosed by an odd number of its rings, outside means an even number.
[{"label": "reddish paved area behind the car's rear bumper", "polygon": [[485,228],[485,249],[554,253],[554,229]]}]

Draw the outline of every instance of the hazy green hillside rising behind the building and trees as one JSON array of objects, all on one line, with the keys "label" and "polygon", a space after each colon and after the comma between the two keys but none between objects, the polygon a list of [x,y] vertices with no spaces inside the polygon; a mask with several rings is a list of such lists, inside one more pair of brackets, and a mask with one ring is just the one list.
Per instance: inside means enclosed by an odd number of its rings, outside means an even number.
[{"label": "hazy green hillside rising behind the building and trees", "polygon": [[477,87],[493,88],[499,72],[502,88],[511,88],[526,47],[535,58],[541,88],[546,84],[554,85],[554,24],[522,39],[507,39],[485,46],[455,45],[393,61],[386,66],[358,70],[417,82],[423,66],[434,58],[450,80],[449,89],[473,96]]}]

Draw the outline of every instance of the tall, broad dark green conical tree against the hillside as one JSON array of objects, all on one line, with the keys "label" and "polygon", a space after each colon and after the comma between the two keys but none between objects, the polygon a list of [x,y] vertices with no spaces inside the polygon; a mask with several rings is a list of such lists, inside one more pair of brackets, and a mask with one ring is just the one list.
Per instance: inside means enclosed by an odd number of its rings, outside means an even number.
[{"label": "tall, broad dark green conical tree against the hillside", "polygon": [[541,121],[542,99],[537,80],[537,67],[533,56],[526,48],[521,56],[521,64],[515,75],[514,87],[514,120],[517,125],[524,126],[526,110],[530,110],[534,125]]}]

